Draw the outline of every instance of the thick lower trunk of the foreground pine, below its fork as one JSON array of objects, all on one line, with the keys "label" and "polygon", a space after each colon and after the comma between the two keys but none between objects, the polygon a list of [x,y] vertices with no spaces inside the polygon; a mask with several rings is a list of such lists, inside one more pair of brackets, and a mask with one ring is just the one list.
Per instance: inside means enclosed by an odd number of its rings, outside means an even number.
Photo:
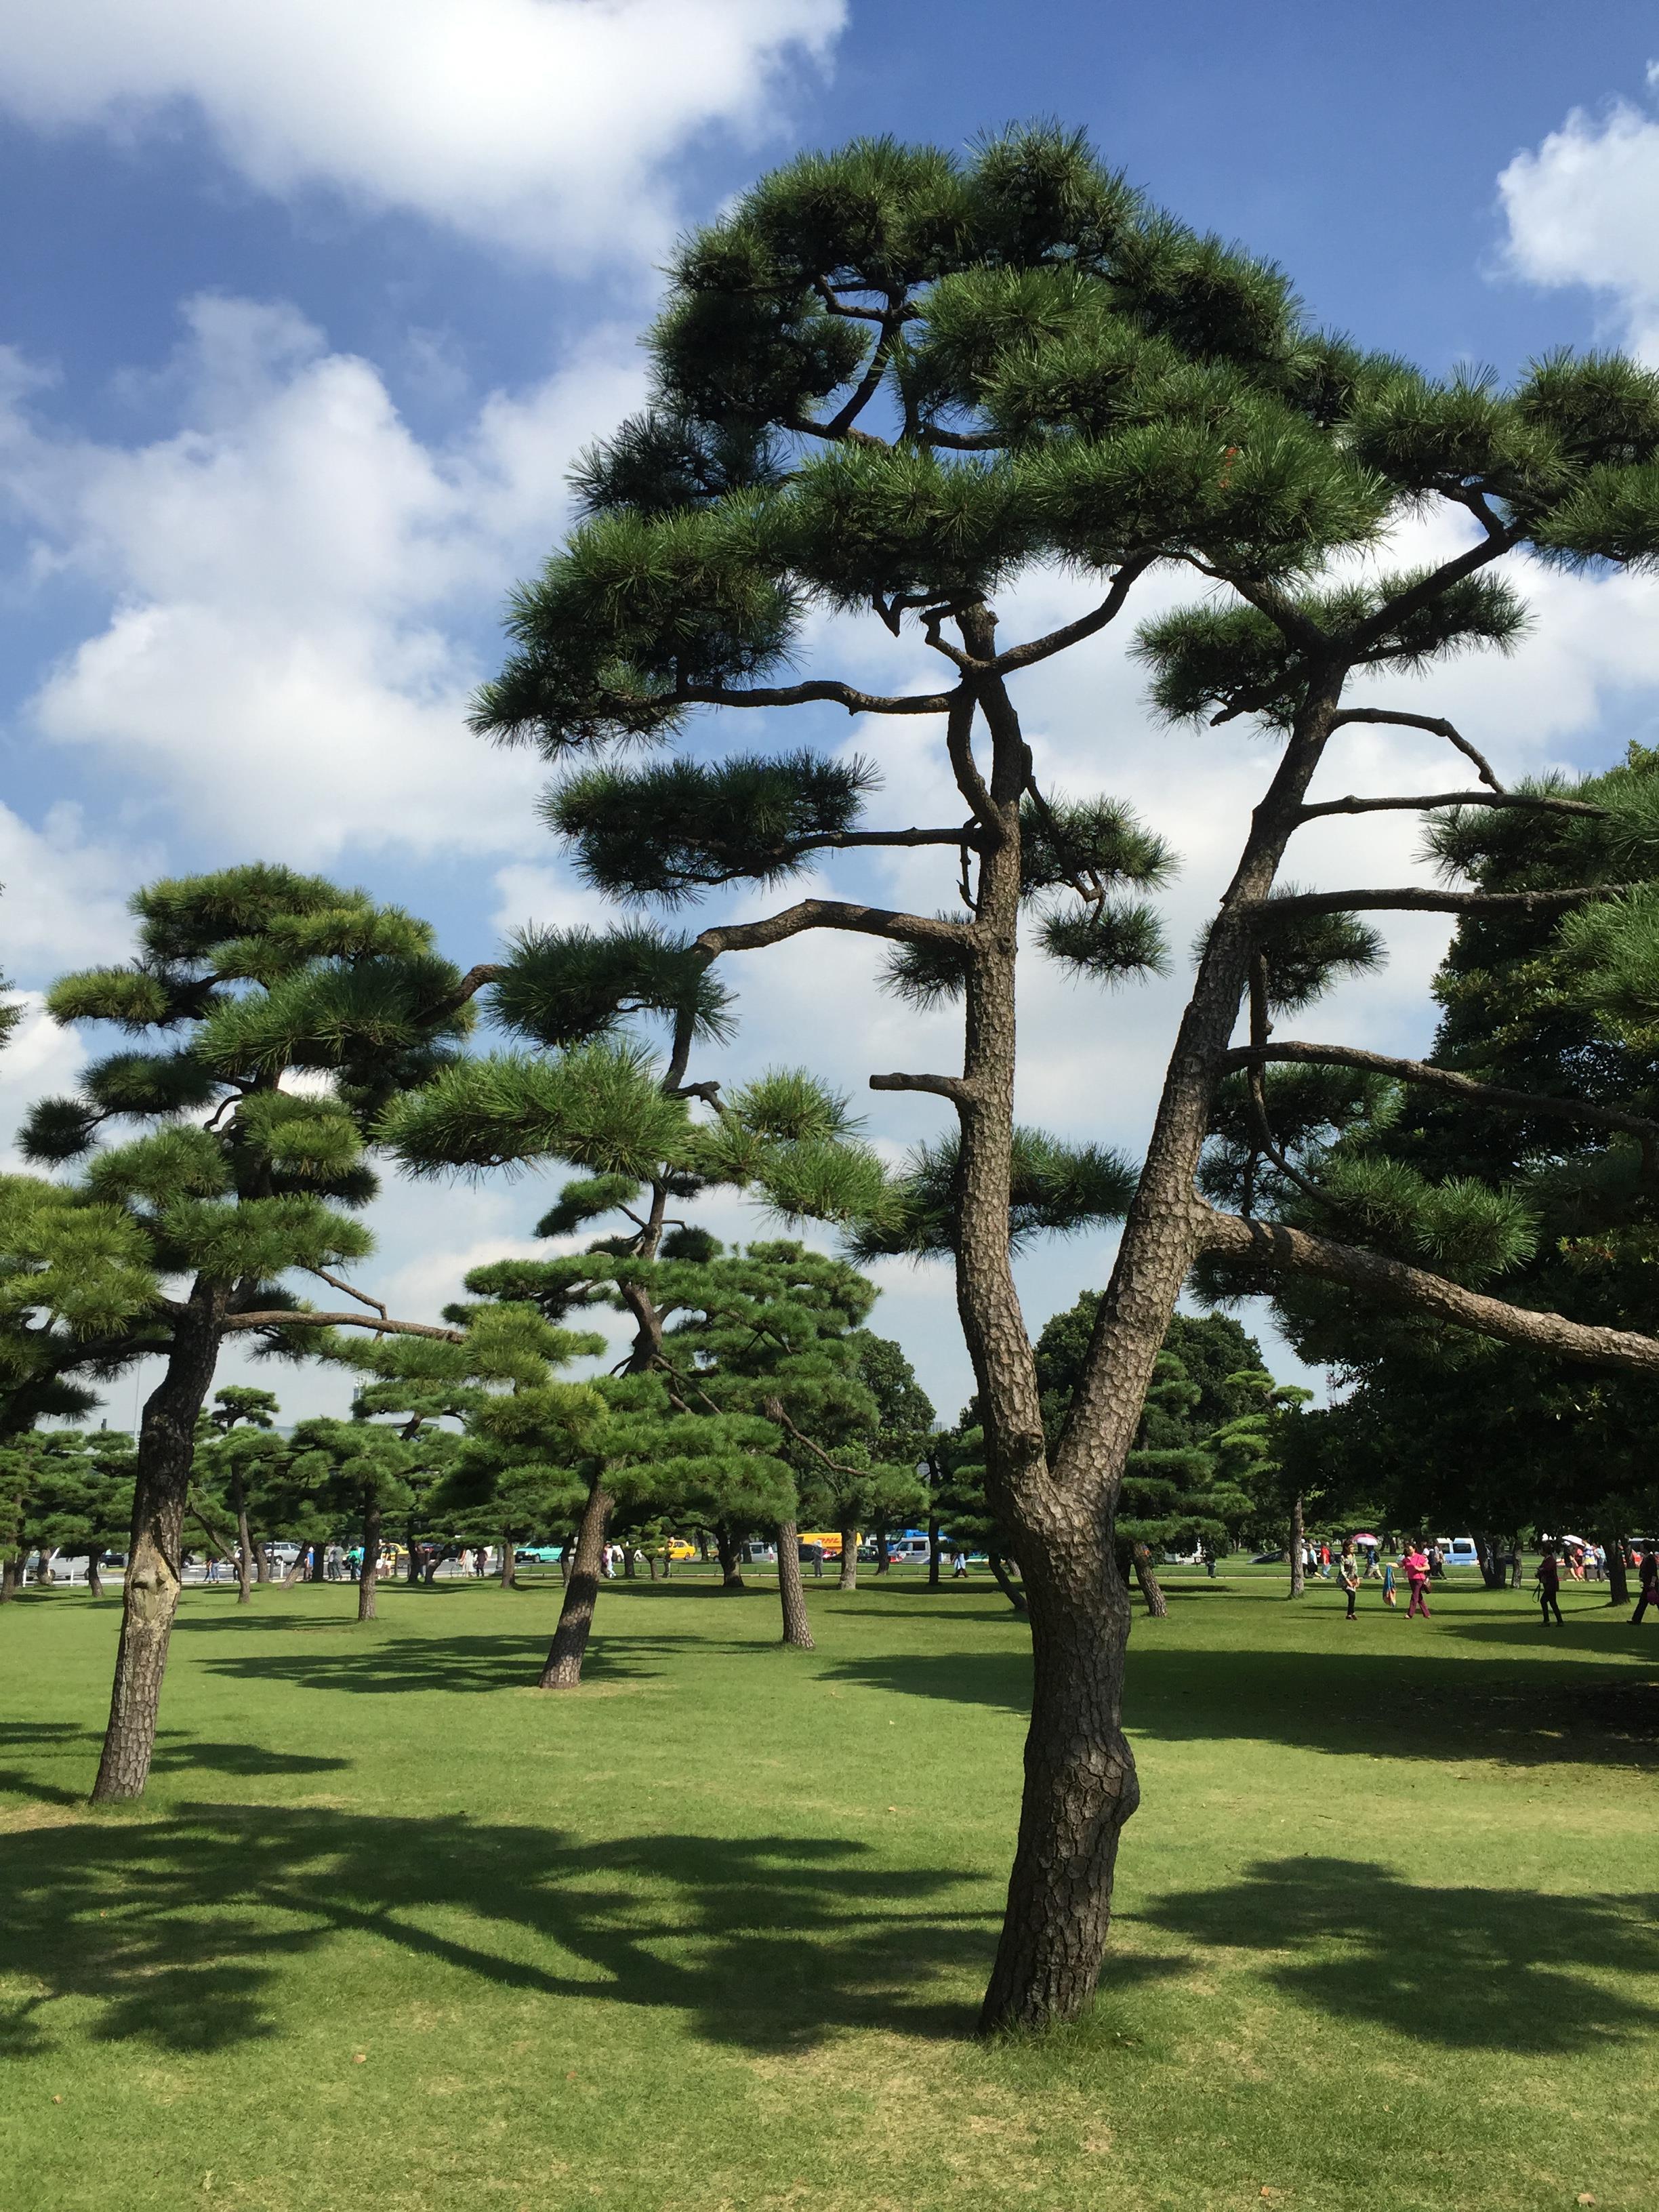
[{"label": "thick lower trunk of the foreground pine, below its fork", "polygon": [[[1139,1803],[1119,1725],[1128,1590],[1115,1546],[1075,1533],[1073,1557],[1026,1575],[1031,1732],[1020,1843],[980,2031],[1075,2020],[1099,1980],[1124,1820]],[[1053,1568],[1060,1566],[1060,1573]]]}]

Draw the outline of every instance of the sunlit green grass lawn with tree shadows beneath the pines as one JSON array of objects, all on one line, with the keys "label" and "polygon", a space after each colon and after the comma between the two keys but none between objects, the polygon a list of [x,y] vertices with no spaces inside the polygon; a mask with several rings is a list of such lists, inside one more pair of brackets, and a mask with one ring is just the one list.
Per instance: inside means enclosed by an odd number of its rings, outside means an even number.
[{"label": "sunlit green grass lawn with tree shadows beneath the pines", "polygon": [[[984,1586],[186,1595],[91,1816],[117,1599],[0,1615],[0,2201],[1655,2203],[1659,1624],[1276,1575],[1137,1621],[1102,1997],[969,2039],[1024,1630]],[[1579,1608],[1579,1610],[1571,1610]]]}]

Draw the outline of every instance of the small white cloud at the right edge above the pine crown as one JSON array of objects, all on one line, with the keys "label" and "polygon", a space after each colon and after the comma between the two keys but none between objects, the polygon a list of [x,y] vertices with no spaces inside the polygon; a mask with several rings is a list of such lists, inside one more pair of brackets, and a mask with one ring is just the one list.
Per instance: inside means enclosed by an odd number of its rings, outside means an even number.
[{"label": "small white cloud at the right edge above the pine crown", "polygon": [[1628,100],[1601,115],[1573,108],[1537,150],[1515,155],[1498,192],[1515,274],[1608,294],[1628,343],[1659,354],[1659,119]]}]

